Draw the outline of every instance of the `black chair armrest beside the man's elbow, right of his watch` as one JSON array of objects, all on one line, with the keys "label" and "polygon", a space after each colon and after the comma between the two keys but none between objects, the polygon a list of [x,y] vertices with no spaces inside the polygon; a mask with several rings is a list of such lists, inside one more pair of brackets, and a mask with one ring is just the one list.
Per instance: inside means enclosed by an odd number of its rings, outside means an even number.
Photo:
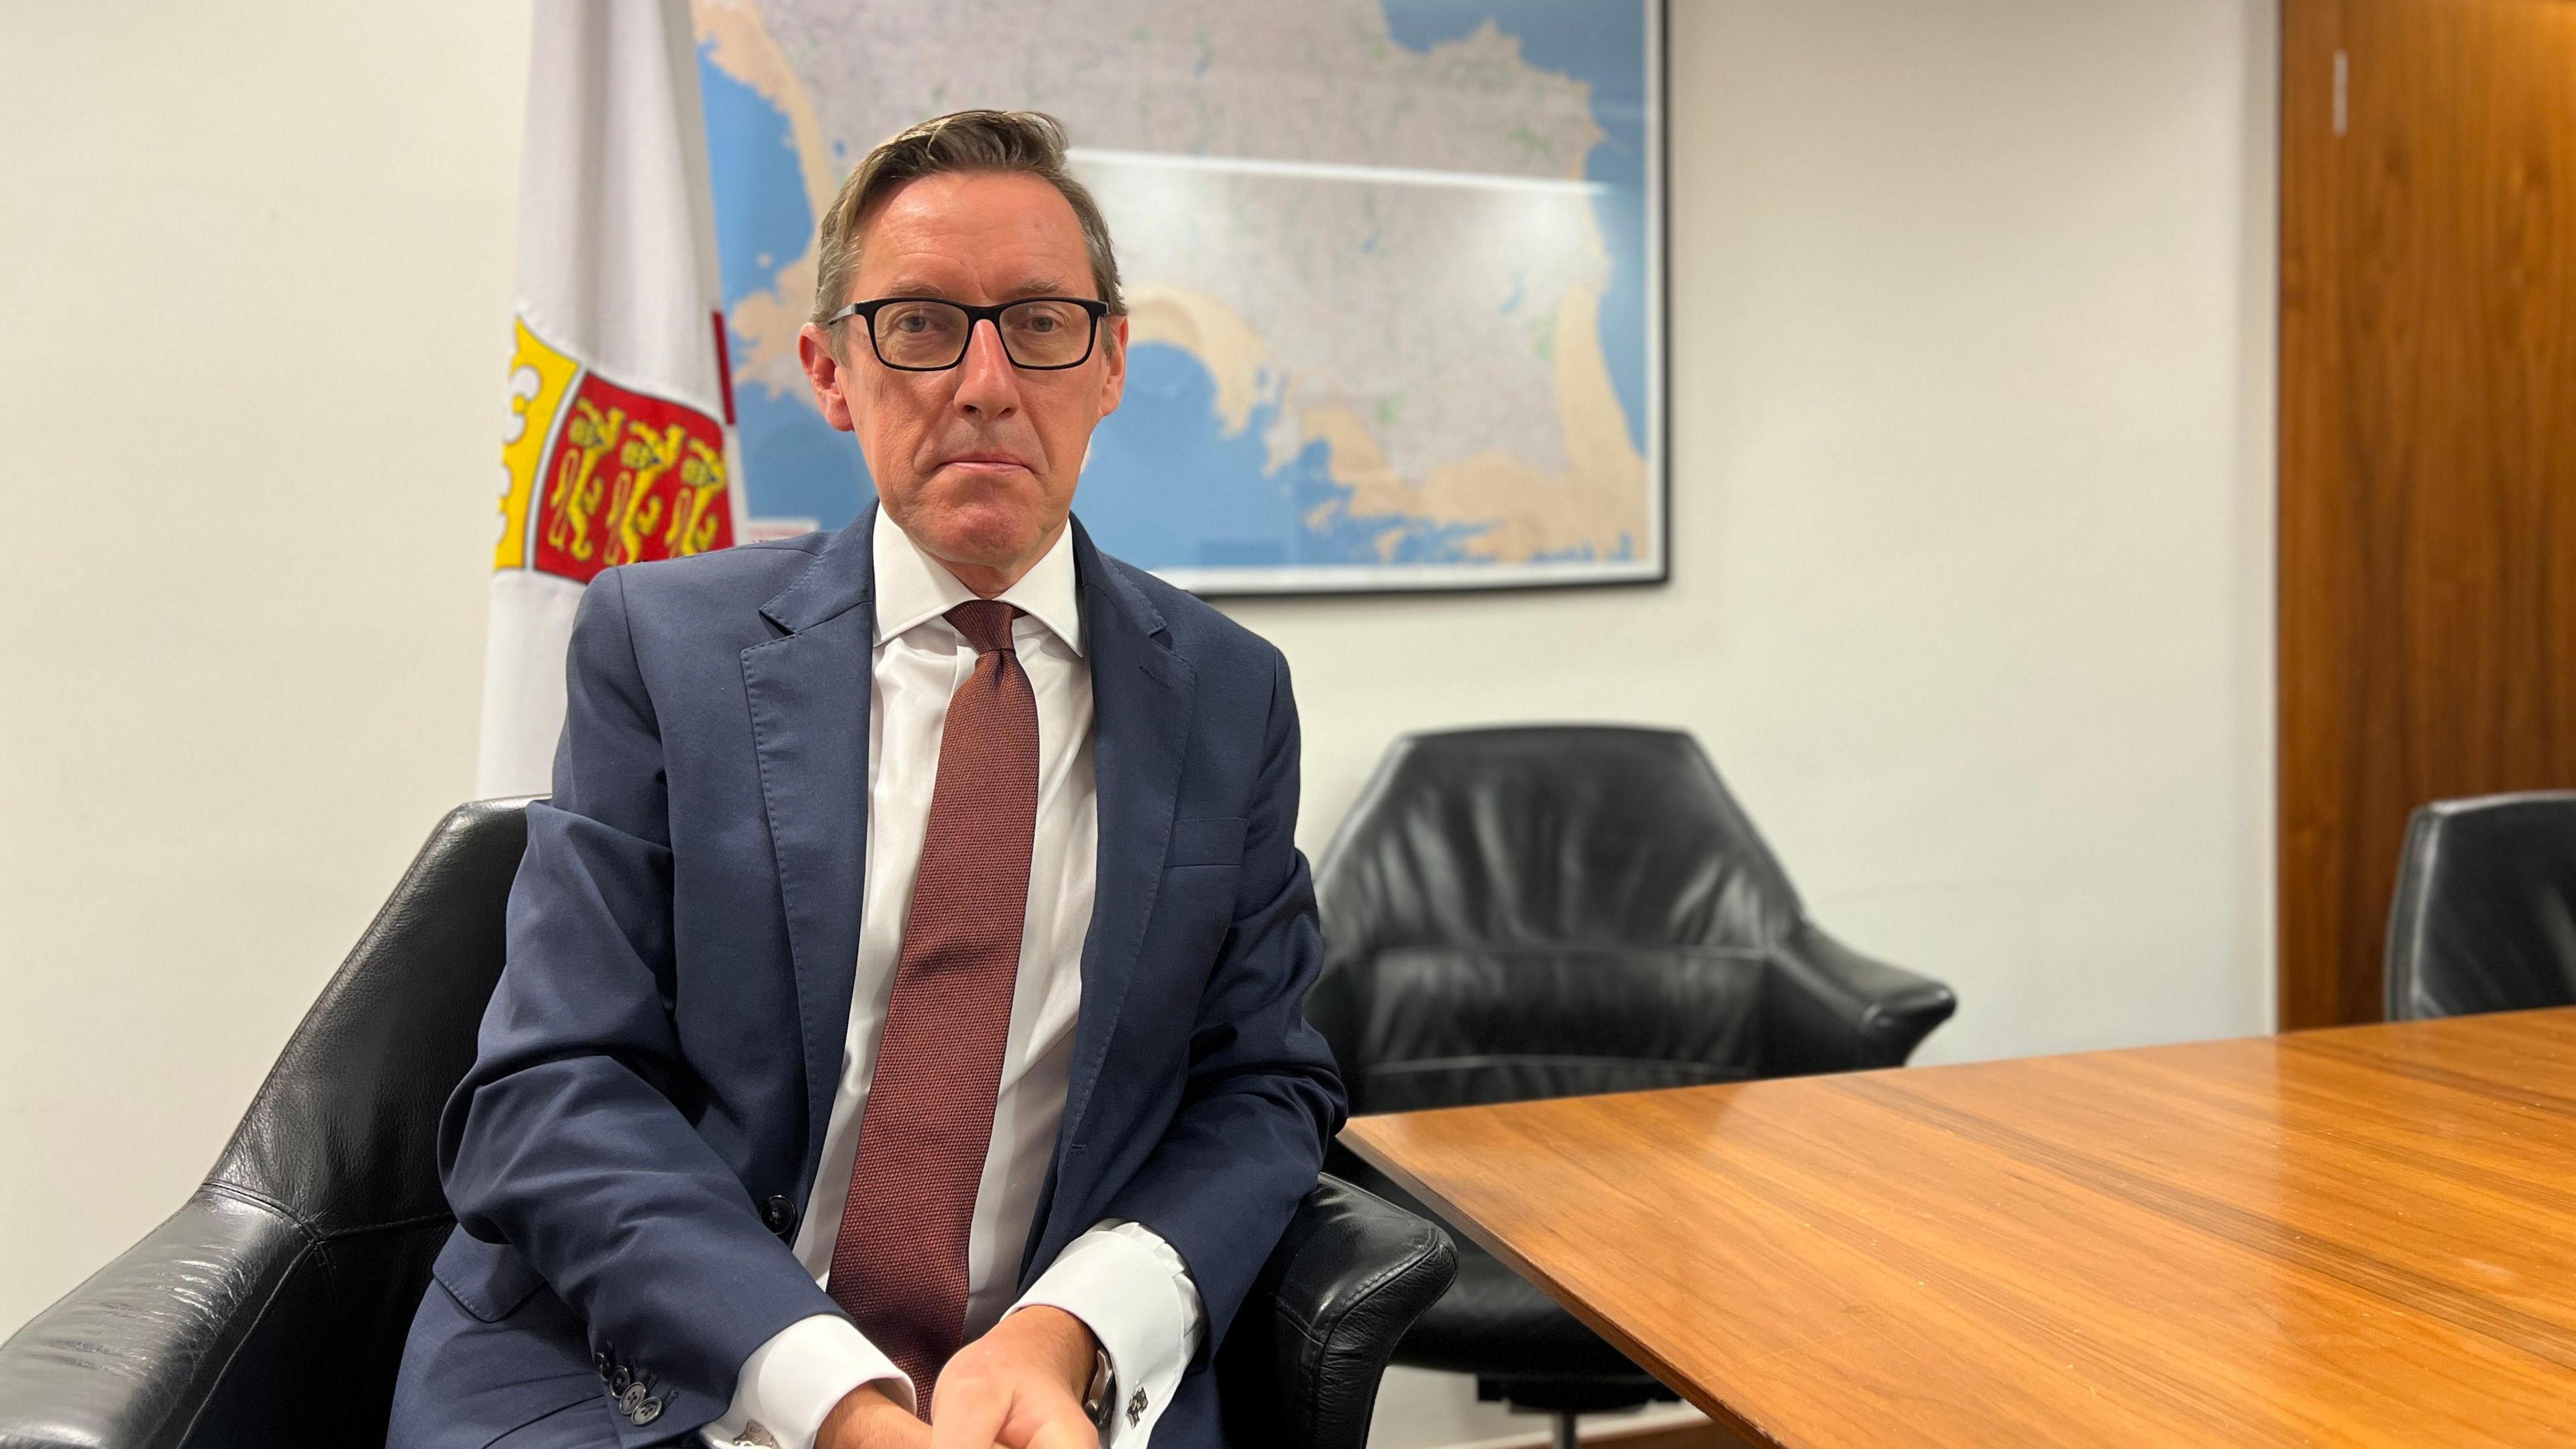
[{"label": "black chair armrest beside the man's elbow, right of his watch", "polygon": [[1216,1354],[1226,1436],[1363,1449],[1396,1341],[1455,1276],[1440,1225],[1316,1178]]}]

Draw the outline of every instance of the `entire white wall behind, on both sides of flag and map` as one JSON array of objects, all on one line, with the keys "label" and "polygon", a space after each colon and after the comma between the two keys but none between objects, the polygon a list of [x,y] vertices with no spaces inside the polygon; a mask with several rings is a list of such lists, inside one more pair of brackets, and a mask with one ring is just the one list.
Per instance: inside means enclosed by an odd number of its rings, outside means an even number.
[{"label": "entire white wall behind, on both sides of flag and map", "polygon": [[[1682,724],[1958,987],[1922,1060],[2264,1029],[2269,15],[1674,0],[1674,583],[1239,606],[1309,848],[1399,730]],[[469,789],[526,8],[0,57],[5,1328],[185,1194]]]}]

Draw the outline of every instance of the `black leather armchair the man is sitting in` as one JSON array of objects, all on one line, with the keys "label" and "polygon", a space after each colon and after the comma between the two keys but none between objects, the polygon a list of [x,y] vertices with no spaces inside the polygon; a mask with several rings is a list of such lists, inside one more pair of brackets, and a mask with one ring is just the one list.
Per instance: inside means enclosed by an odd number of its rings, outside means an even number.
[{"label": "black leather armchair the man is sitting in", "polygon": [[[451,812],[206,1183],[0,1343],[5,1449],[374,1446],[453,1217],[435,1127],[502,964],[526,802]],[[1440,1227],[1321,1178],[1218,1351],[1239,1444],[1360,1449]]]}]

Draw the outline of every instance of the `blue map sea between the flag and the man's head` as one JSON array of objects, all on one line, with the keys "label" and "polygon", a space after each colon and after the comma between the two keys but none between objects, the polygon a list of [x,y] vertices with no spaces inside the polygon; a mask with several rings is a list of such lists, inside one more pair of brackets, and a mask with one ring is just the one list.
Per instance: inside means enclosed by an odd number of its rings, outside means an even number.
[{"label": "blue map sea between the flag and the man's head", "polygon": [[[706,157],[716,188],[716,260],[724,309],[732,312],[744,297],[778,286],[778,268],[806,253],[814,242],[814,209],[806,204],[788,119],[711,57],[714,46],[698,46]],[[742,356],[742,333],[734,333],[732,345]],[[824,529],[840,529],[876,498],[858,441],[832,431],[806,397],[737,382],[734,425],[752,518],[814,518]]]}]

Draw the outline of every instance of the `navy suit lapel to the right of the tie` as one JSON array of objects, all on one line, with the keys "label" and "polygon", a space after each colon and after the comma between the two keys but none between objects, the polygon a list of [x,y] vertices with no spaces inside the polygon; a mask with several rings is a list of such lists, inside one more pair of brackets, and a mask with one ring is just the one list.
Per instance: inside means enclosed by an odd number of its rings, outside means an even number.
[{"label": "navy suit lapel to the right of the tie", "polygon": [[[1162,861],[1180,802],[1180,766],[1190,748],[1190,704],[1198,676],[1172,652],[1162,614],[1100,557],[1079,521],[1074,575],[1082,585],[1082,634],[1092,665],[1092,763],[1097,779],[1100,853],[1092,887],[1092,926],[1082,938],[1082,1013],[1074,1024],[1074,1065],[1064,1091],[1064,1127],[1048,1171],[1046,1204],[1030,1225],[1023,1279],[1041,1243],[1069,1238],[1056,1217],[1056,1178],[1066,1147],[1079,1140],[1082,1114],[1108,1060],[1118,1011],[1136,977]],[[1090,1227],[1084,1225],[1074,1225]]]}]

